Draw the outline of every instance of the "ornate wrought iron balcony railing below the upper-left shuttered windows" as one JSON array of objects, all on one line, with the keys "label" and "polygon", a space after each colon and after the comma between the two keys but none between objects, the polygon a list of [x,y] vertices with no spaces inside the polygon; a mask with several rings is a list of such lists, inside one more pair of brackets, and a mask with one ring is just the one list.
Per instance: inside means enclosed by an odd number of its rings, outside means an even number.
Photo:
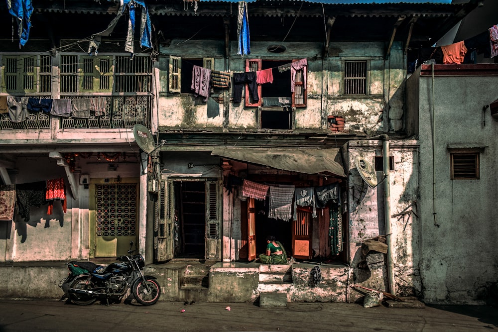
[{"label": "ornate wrought iron balcony railing below the upper-left shuttered windows", "polygon": [[[38,96],[37,96],[38,97]],[[91,98],[102,96],[90,96]],[[43,97],[42,97],[43,98]],[[47,97],[45,97],[47,98]],[[82,96],[63,96],[64,99],[89,98]],[[91,115],[89,118],[60,117],[61,129],[100,129],[131,128],[135,124],[149,126],[152,99],[149,95],[140,96],[105,96],[106,114]],[[50,129],[50,119],[54,115],[43,112],[28,112],[22,122],[10,121],[8,113],[0,114],[0,130],[8,129]]]}]

